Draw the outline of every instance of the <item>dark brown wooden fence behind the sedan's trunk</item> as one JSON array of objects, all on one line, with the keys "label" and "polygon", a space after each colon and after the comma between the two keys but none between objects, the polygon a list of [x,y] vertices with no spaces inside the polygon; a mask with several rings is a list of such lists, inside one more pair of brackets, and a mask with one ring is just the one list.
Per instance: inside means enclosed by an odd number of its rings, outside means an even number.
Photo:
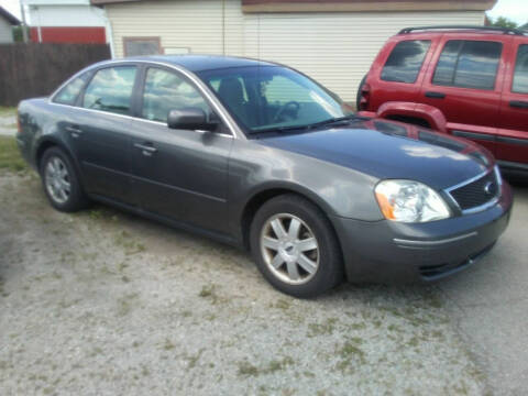
[{"label": "dark brown wooden fence behind the sedan's trunk", "polygon": [[106,44],[0,44],[0,106],[48,96],[81,68],[109,58]]}]

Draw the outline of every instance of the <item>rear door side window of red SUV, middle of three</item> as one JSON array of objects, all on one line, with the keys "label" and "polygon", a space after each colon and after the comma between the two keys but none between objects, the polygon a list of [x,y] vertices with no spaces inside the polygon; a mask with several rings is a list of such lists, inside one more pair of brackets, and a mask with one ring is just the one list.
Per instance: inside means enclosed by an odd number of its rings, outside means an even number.
[{"label": "rear door side window of red SUV, middle of three", "polygon": [[493,89],[503,44],[451,40],[443,47],[432,84],[461,88]]}]

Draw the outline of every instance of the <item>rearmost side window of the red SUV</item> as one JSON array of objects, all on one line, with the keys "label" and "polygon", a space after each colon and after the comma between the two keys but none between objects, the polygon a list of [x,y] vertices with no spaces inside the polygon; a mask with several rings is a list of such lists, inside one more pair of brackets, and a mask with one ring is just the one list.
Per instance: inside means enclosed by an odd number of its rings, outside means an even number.
[{"label": "rearmost side window of the red SUV", "polygon": [[428,40],[408,40],[396,44],[383,68],[382,80],[415,82],[430,46]]}]

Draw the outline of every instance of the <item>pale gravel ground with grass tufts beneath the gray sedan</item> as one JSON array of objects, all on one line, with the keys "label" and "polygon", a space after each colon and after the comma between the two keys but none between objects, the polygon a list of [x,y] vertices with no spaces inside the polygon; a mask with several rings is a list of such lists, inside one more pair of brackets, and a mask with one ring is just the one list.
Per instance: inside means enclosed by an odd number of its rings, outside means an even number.
[{"label": "pale gravel ground with grass tufts beneath the gray sedan", "polygon": [[[497,351],[477,345],[516,324],[491,317],[491,336],[469,334],[485,324],[464,320],[486,314],[463,306],[482,292],[477,283],[492,282],[493,293],[526,284],[526,268],[509,263],[526,253],[527,189],[518,189],[513,227],[493,254],[457,279],[343,285],[316,300],[280,295],[245,253],[207,239],[107,207],[54,211],[32,174],[0,174],[0,202],[2,395],[528,391],[526,381],[497,382],[507,362],[495,371],[488,359]],[[528,345],[522,329],[512,330],[497,334]],[[526,346],[517,353],[526,374]]]}]

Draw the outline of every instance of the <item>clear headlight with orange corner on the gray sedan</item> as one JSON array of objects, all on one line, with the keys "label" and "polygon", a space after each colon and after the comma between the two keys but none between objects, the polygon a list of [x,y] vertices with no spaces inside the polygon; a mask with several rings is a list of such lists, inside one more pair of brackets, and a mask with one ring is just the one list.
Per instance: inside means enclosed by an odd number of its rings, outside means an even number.
[{"label": "clear headlight with orange corner on the gray sedan", "polygon": [[383,216],[400,222],[447,219],[451,212],[444,200],[425,184],[413,180],[384,180],[375,188]]}]

